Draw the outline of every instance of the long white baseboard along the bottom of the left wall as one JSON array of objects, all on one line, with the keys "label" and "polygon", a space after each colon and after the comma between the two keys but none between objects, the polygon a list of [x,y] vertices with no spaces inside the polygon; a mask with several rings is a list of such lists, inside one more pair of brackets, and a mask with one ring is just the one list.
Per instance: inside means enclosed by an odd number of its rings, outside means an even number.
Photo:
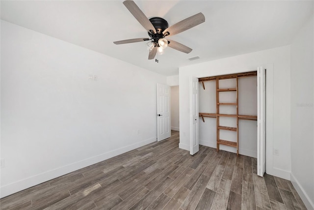
[{"label": "long white baseboard along the bottom of the left wall", "polygon": [[38,175],[29,177],[29,178],[26,178],[23,180],[19,180],[19,181],[13,182],[13,183],[6,184],[6,185],[0,187],[0,198],[6,197],[8,195],[11,195],[13,193],[16,193],[16,192],[19,192],[21,190],[27,189],[29,187],[35,186],[37,184],[43,183],[45,181],[52,180],[54,178],[63,176],[65,174],[71,173],[71,172],[76,171],[78,169],[93,165],[95,163],[104,161],[104,160],[109,159],[111,157],[114,157],[114,156],[117,156],[119,154],[128,152],[130,150],[137,149],[139,147],[145,146],[145,145],[153,143],[153,142],[156,142],[156,137],[152,137],[152,138],[149,138],[149,139],[144,140],[142,142],[137,142],[137,143],[134,143],[132,145],[129,145],[129,146],[126,146],[123,148],[119,148],[117,150],[108,151],[108,152],[105,152],[103,154],[100,154],[100,155],[97,155],[94,157],[80,160],[78,162],[75,162],[75,163],[72,163],[72,164],[69,164],[66,166],[62,166],[60,168],[56,168],[56,169],[53,169],[51,171],[47,171],[47,172],[44,172],[42,174],[38,174]]}]

